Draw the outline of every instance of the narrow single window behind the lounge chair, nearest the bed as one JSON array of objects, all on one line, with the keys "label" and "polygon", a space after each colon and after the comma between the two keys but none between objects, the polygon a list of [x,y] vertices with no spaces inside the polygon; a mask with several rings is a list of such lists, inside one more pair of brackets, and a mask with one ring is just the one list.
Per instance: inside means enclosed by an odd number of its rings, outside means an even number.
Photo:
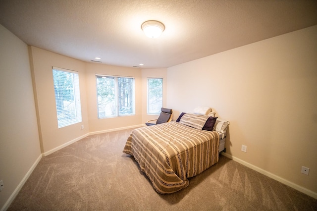
[{"label": "narrow single window behind the lounge chair, nearest the bed", "polygon": [[159,114],[163,101],[163,78],[148,78],[148,114]]}]

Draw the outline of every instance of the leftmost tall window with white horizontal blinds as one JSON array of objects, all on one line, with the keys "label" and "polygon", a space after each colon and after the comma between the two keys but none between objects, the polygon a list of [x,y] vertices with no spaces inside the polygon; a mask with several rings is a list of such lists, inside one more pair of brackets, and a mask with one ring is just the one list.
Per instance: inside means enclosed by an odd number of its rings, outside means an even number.
[{"label": "leftmost tall window with white horizontal blinds", "polygon": [[53,67],[58,128],[81,122],[78,72]]}]

